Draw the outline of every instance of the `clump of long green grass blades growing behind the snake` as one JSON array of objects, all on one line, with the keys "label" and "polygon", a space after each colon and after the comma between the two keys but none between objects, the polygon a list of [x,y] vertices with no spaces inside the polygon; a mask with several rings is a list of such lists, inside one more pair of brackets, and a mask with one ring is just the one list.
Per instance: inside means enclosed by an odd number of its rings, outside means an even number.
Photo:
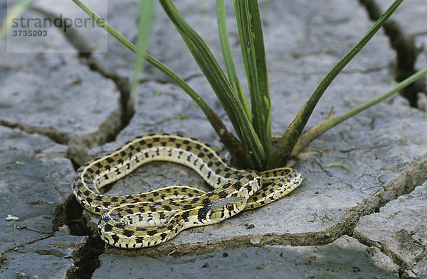
[{"label": "clump of long green grass blades growing behind the snake", "polygon": [[[354,58],[357,53],[366,45],[374,34],[381,28],[384,22],[391,16],[398,8],[403,0],[395,0],[389,9],[386,10],[383,16],[379,18],[376,23],[367,31],[367,33],[354,45],[349,52],[344,55],[342,60],[337,62],[332,70],[326,77],[320,81],[320,84],[313,92],[310,99],[307,100],[300,112],[295,116],[295,119],[290,123],[288,128],[285,129],[283,136],[273,148],[272,136],[270,131],[270,93],[268,90],[268,72],[265,66],[265,49],[263,43],[263,29],[260,18],[260,11],[258,1],[256,0],[236,0],[234,3],[234,10],[236,13],[236,24],[238,26],[238,35],[241,45],[241,53],[243,58],[243,65],[246,70],[246,79],[248,80],[248,95],[249,101],[246,99],[246,94],[241,87],[241,83],[236,75],[236,69],[231,55],[231,45],[228,42],[228,33],[226,26],[226,13],[224,0],[216,0],[216,13],[218,18],[218,34],[223,53],[223,60],[225,61],[226,72],[224,72],[219,65],[218,61],[211,53],[209,46],[206,45],[201,36],[194,31],[191,26],[184,20],[179,13],[174,3],[170,0],[159,0],[162,8],[169,16],[176,30],[181,35],[186,43],[189,51],[194,56],[201,72],[204,73],[206,80],[211,84],[219,102],[226,111],[228,119],[233,124],[236,136],[229,132],[223,121],[219,119],[213,109],[211,109],[206,102],[192,89],[189,84],[184,82],[176,73],[170,70],[166,65],[162,64],[151,55],[145,52],[147,49],[147,42],[149,32],[147,26],[149,23],[139,24],[139,39],[138,45],[135,46],[124,38],[120,33],[115,31],[114,28],[109,26],[102,18],[96,15],[92,10],[85,6],[80,0],[73,0],[78,4],[83,11],[88,13],[96,22],[110,33],[114,38],[120,41],[123,45],[129,48],[132,52],[137,54],[135,62],[135,75],[132,82],[132,92],[136,90],[136,80],[142,70],[142,60],[146,60],[154,67],[164,72],[167,77],[174,81],[181,87],[186,94],[196,102],[201,110],[206,115],[206,119],[214,127],[216,133],[223,141],[224,145],[230,151],[231,156],[235,162],[241,167],[253,168],[256,170],[265,170],[270,168],[278,168],[287,163],[288,159],[302,151],[311,141],[320,136],[325,131],[342,123],[342,121],[349,117],[358,114],[360,111],[384,101],[396,92],[399,92],[403,87],[414,82],[415,80],[426,75],[427,68],[417,72],[416,74],[408,77],[403,82],[388,82],[392,86],[389,92],[381,94],[379,97],[371,101],[357,106],[349,110],[347,113],[338,117],[329,117],[326,121],[313,126],[312,128],[302,133],[310,118],[312,111],[315,109],[317,102],[325,92],[327,87],[331,84],[332,80],[342,71],[347,63]],[[154,13],[154,0],[139,1],[140,14],[139,18],[149,18],[151,21],[152,13]],[[147,5],[147,6],[145,6]],[[148,8],[147,8],[148,7]],[[147,13],[151,13],[151,16]],[[144,15],[144,16],[142,16]],[[314,19],[318,24],[322,23],[322,18]],[[297,38],[302,34],[297,32]],[[133,102],[133,98],[131,98]],[[133,104],[130,104],[133,106]],[[426,117],[427,114],[424,114]],[[336,165],[330,165],[336,166]],[[344,168],[343,165],[340,165]],[[348,167],[347,167],[348,168]],[[347,169],[346,168],[346,169]]]}]

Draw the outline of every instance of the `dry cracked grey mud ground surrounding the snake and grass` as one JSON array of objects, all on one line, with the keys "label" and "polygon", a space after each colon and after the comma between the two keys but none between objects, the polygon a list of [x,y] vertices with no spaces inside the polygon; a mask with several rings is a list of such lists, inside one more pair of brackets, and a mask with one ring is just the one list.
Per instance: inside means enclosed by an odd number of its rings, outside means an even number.
[{"label": "dry cracked grey mud ground surrounding the snake and grass", "polygon": [[[111,2],[109,23],[135,42],[135,2]],[[260,1],[274,134],[391,2]],[[176,6],[222,62],[214,1]],[[0,4],[1,16],[5,9]],[[27,13],[69,9],[77,8],[34,1]],[[426,12],[424,0],[401,4],[327,89],[308,126],[326,119],[332,106],[334,115],[342,114],[426,67]],[[230,3],[227,16],[242,65]],[[291,195],[160,246],[125,250],[100,241],[97,217],[73,197],[79,165],[146,133],[183,133],[226,152],[198,106],[150,65],[135,111],[126,108],[134,55],[120,43],[109,38],[107,53],[79,53],[76,38],[90,41],[83,31],[53,36],[58,53],[7,53],[0,43],[0,278],[427,278],[425,81],[313,141],[291,162],[304,177]],[[226,119],[159,5],[149,53]],[[245,87],[242,67],[238,74]],[[350,170],[326,168],[333,162]],[[185,167],[150,163],[107,195],[174,183],[206,187]]]}]

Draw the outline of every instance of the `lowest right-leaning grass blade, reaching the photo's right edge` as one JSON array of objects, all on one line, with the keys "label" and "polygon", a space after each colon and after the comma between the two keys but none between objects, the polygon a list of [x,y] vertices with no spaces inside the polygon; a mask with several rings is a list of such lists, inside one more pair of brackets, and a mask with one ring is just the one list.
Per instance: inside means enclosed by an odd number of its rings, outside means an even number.
[{"label": "lowest right-leaning grass blade, reaching the photo's right edge", "polygon": [[358,114],[361,111],[364,111],[365,109],[369,109],[371,106],[374,106],[379,102],[383,102],[385,99],[391,97],[392,95],[399,92],[401,89],[404,89],[404,87],[407,87],[409,84],[415,82],[416,80],[419,80],[421,77],[425,75],[427,75],[427,68],[421,71],[418,71],[415,74],[408,77],[406,80],[399,82],[398,84],[396,84],[395,87],[393,87],[393,89],[380,95],[379,97],[371,99],[371,101],[361,104],[360,106],[357,106],[354,109],[350,109],[345,114],[342,114],[342,116],[334,117],[332,119],[327,119],[326,121],[323,121],[322,123],[308,129],[305,133],[302,133],[302,136],[297,141],[297,144],[292,150],[291,156],[294,156],[300,153],[300,151],[302,151],[302,149],[308,146],[309,143],[315,140],[315,138],[322,135],[322,133],[325,133],[326,131],[330,130],[330,128],[337,126],[343,121],[349,119],[350,117]]}]

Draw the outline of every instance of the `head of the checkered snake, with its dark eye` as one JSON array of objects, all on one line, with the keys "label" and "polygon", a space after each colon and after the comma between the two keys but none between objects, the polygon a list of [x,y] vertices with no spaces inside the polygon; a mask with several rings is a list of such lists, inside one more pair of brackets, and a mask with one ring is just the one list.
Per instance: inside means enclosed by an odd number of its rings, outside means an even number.
[{"label": "head of the checkered snake, with its dark eye", "polygon": [[246,199],[243,197],[227,197],[218,202],[213,202],[209,211],[209,219],[217,222],[238,214],[246,207]]}]

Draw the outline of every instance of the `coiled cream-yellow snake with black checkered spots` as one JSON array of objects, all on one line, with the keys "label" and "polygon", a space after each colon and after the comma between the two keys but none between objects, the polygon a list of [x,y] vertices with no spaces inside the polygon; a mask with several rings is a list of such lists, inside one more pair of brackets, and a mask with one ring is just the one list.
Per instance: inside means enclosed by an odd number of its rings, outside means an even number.
[{"label": "coiled cream-yellow snake with black checkered spots", "polygon": [[[105,185],[152,161],[185,165],[213,190],[169,185],[132,195],[100,193]],[[262,207],[288,195],[301,182],[302,175],[292,168],[239,170],[207,143],[164,133],[139,136],[81,165],[73,177],[72,190],[85,209],[100,215],[97,232],[105,243],[141,248],[169,241],[184,229],[215,224]]]}]

